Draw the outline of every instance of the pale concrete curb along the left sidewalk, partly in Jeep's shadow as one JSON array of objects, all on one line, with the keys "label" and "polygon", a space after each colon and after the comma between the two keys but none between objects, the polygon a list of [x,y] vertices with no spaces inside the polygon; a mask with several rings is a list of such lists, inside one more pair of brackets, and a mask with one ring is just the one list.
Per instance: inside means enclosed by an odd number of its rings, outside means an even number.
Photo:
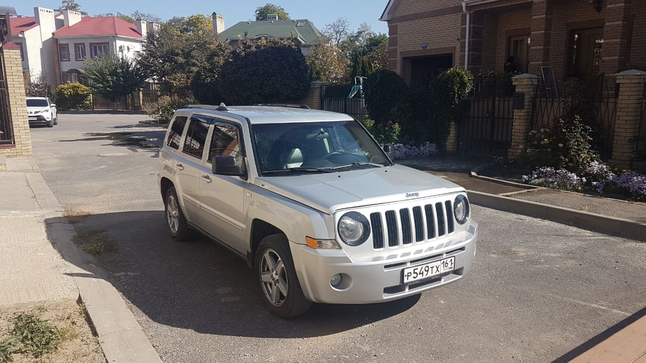
[{"label": "pale concrete curb along the left sidewalk, partly in Jeep's shadow", "polygon": [[78,286],[107,362],[161,363],[132,311],[119,291],[108,282],[105,272],[96,266],[94,257],[79,251],[72,242],[76,235],[74,226],[63,216],[63,208],[43,176],[38,172],[26,175],[36,202],[45,213],[54,245],[68,262],[69,275]]}]

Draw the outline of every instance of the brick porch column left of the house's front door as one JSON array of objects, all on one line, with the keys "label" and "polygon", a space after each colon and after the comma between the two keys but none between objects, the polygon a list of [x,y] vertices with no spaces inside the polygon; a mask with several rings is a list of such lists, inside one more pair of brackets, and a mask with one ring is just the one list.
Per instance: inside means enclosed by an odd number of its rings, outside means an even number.
[{"label": "brick porch column left of the house's front door", "polygon": [[534,0],[532,3],[532,43],[529,52],[530,74],[541,74],[541,66],[550,62],[552,37],[552,0]]}]

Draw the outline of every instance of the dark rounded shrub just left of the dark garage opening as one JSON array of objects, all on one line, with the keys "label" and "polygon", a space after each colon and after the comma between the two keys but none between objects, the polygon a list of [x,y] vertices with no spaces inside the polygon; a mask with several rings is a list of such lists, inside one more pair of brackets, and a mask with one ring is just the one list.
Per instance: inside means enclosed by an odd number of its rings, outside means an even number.
[{"label": "dark rounded shrub just left of the dark garage opening", "polygon": [[391,70],[380,70],[368,76],[364,82],[364,101],[370,119],[377,125],[388,121],[398,122],[392,111],[404,101],[408,86],[399,74]]}]

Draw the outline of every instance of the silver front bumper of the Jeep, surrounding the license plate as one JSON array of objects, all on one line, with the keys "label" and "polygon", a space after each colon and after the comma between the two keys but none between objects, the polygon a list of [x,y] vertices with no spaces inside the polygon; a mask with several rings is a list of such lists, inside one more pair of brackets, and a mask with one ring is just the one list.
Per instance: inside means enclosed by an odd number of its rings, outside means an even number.
[{"label": "silver front bumper of the Jeep, surrounding the license plate", "polygon": [[[447,241],[448,240],[448,241]],[[342,249],[317,250],[290,242],[298,279],[306,297],[326,304],[370,304],[416,295],[461,279],[474,262],[477,223],[471,222],[467,231],[442,240],[440,249],[428,253],[404,253],[398,258],[383,258],[372,262],[352,262]],[[426,247],[426,245],[424,245]],[[402,284],[402,270],[455,256],[455,269],[415,284]],[[346,289],[332,287],[330,278],[337,273],[350,276]]]}]

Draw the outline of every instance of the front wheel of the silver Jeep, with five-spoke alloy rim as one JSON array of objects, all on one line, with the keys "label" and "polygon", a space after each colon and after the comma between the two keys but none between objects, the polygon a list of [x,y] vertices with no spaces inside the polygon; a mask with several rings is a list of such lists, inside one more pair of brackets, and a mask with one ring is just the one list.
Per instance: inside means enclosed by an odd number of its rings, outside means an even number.
[{"label": "front wheel of the silver Jeep, with five-spoke alloy rim", "polygon": [[255,275],[267,308],[274,315],[291,318],[305,313],[311,306],[298,282],[284,234],[273,234],[260,241]]}]

